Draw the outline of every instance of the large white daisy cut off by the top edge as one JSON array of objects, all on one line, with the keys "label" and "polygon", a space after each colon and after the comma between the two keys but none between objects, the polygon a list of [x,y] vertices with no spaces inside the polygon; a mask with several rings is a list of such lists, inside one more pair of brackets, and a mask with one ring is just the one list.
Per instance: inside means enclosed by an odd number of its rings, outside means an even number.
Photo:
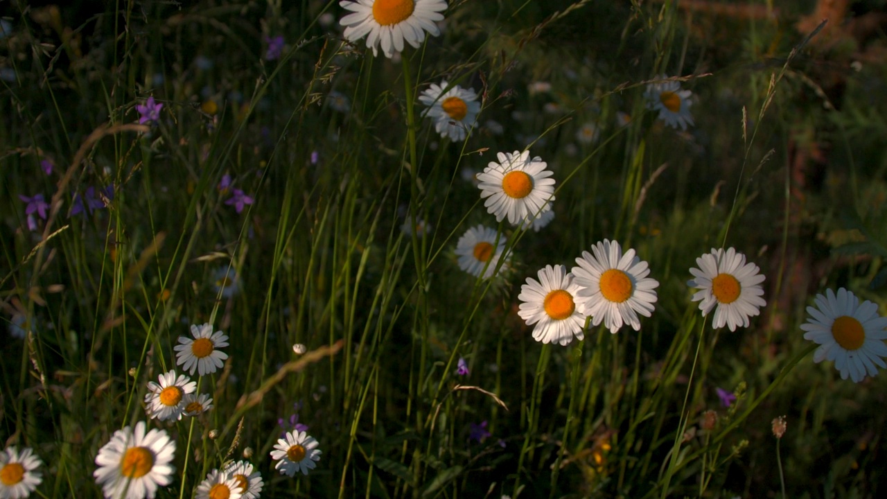
[{"label": "large white daisy cut off by the top edge", "polygon": [[344,36],[357,42],[366,36],[366,46],[379,55],[381,45],[385,57],[404,50],[404,40],[414,48],[425,40],[425,32],[440,35],[435,23],[443,20],[446,0],[356,0],[339,2],[351,11],[339,23]]}]

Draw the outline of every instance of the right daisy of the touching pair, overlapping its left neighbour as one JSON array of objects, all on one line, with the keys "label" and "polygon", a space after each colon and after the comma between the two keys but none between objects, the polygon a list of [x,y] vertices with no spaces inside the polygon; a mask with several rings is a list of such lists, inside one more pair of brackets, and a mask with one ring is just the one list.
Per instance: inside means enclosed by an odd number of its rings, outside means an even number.
[{"label": "right daisy of the touching pair, overlapping its left neighbour", "polygon": [[605,239],[592,246],[594,255],[582,252],[573,267],[579,289],[577,301],[585,305],[593,325],[601,322],[616,333],[623,324],[640,330],[640,313],[649,317],[656,303],[659,281],[647,277],[649,265],[635,255],[634,249],[622,253],[618,242]]}]

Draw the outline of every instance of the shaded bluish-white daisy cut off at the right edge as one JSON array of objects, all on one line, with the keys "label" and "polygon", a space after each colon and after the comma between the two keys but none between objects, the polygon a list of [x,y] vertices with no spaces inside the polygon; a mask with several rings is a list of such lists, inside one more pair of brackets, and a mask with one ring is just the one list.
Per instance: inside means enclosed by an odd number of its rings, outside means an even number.
[{"label": "shaded bluish-white daisy cut off at the right edge", "polygon": [[[826,295],[816,295],[816,307],[808,306],[810,318],[801,329],[804,339],[820,345],[813,353],[813,361],[832,360],[841,372],[841,378],[860,383],[865,377],[878,374],[884,368],[882,357],[887,357],[887,317],[878,315],[878,305],[841,288],[837,295],[831,289]],[[877,366],[877,367],[875,367]]]}]

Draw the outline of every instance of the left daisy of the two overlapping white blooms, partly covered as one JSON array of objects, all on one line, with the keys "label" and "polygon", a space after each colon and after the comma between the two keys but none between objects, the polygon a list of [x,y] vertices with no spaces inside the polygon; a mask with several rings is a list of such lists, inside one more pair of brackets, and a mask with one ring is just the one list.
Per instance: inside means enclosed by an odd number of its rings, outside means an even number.
[{"label": "left daisy of the two overlapping white blooms, partly covered", "polygon": [[584,308],[577,304],[579,285],[563,265],[546,265],[539,280],[527,278],[517,299],[523,303],[517,312],[527,325],[536,324],[533,339],[542,343],[568,345],[573,336],[583,339]]}]

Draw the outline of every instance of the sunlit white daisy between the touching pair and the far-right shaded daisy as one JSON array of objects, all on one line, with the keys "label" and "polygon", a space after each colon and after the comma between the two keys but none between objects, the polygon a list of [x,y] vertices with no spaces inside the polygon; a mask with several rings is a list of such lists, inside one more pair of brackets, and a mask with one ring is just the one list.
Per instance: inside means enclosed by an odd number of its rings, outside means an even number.
[{"label": "sunlit white daisy between the touching pair and the far-right shaded daisy", "polygon": [[687,281],[687,286],[701,289],[693,295],[693,301],[700,302],[703,316],[717,306],[713,328],[749,327],[749,317],[757,315],[757,309],[767,304],[761,282],[764,276],[760,268],[751,262],[745,263],[745,255],[733,248],[711,249],[702,257],[696,258],[699,268],[690,268],[695,279]]}]

